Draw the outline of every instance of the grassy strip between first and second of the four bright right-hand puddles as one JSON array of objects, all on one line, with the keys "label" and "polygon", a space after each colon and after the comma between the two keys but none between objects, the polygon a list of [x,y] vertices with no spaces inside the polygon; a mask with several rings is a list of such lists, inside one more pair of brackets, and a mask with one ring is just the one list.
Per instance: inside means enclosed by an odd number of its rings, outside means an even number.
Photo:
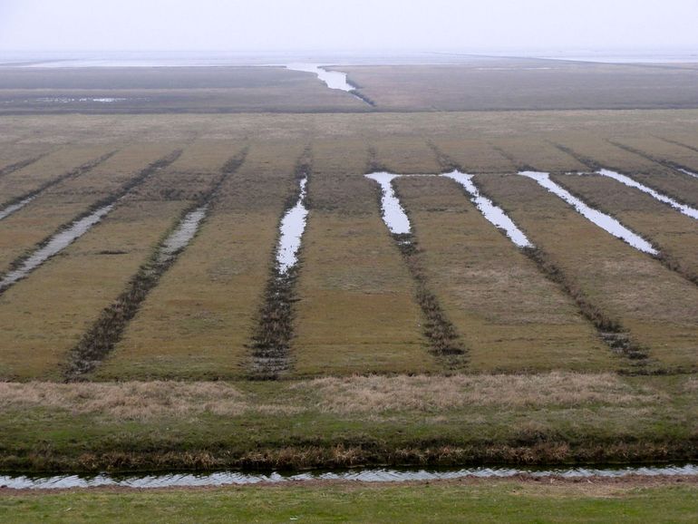
[{"label": "grassy strip between first and second of the four bright right-hand puddles", "polygon": [[431,291],[473,373],[607,369],[612,358],[577,305],[450,177],[395,182]]}]

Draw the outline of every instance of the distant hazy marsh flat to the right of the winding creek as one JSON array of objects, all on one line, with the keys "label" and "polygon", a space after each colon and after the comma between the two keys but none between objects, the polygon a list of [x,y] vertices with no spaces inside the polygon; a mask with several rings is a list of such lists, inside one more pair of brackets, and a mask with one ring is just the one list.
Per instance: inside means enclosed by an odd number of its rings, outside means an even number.
[{"label": "distant hazy marsh flat to the right of the winding creek", "polygon": [[687,109],[698,104],[694,69],[506,58],[337,69],[384,111]]}]

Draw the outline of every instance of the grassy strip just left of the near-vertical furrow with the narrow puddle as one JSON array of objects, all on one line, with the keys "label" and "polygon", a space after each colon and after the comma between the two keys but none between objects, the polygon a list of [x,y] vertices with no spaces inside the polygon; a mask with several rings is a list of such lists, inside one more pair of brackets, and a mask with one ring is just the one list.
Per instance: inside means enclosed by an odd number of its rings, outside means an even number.
[{"label": "grassy strip just left of the near-vertical furrow with the narrow puddle", "polygon": [[[274,264],[279,221],[297,188],[289,173],[302,150],[295,142],[249,145],[245,162],[218,190],[194,241],[150,291],[92,380],[247,377],[250,336]],[[218,178],[226,160],[220,153],[229,158],[235,151],[229,141],[214,149],[216,155],[189,155],[186,170],[205,167],[209,178]],[[190,178],[179,184],[188,187]]]}]

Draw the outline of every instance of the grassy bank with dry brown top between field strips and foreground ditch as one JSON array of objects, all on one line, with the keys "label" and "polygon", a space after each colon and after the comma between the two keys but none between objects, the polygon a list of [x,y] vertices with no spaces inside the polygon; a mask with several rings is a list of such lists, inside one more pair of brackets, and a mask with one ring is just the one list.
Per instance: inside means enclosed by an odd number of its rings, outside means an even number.
[{"label": "grassy bank with dry brown top between field strips and foreground ditch", "polygon": [[687,375],[0,383],[0,470],[693,461],[697,396]]}]

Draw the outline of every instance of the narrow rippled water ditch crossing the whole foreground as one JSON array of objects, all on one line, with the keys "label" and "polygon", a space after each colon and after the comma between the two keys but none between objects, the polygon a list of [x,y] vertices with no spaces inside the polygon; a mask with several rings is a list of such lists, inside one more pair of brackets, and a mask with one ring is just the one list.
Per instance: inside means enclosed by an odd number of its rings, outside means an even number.
[{"label": "narrow rippled water ditch crossing the whole foreground", "polygon": [[161,475],[113,476],[99,475],[0,475],[0,487],[10,490],[65,490],[70,488],[96,488],[119,486],[123,488],[175,488],[247,485],[259,483],[282,484],[311,480],[344,480],[357,482],[413,482],[426,480],[454,480],[474,477],[479,479],[506,479],[526,475],[530,477],[563,477],[585,479],[590,477],[622,478],[698,476],[698,466],[667,465],[637,466],[625,468],[470,468],[460,470],[391,470],[364,469],[350,471],[305,471],[302,473],[246,473],[242,471],[218,471],[212,473],[169,473]]}]

